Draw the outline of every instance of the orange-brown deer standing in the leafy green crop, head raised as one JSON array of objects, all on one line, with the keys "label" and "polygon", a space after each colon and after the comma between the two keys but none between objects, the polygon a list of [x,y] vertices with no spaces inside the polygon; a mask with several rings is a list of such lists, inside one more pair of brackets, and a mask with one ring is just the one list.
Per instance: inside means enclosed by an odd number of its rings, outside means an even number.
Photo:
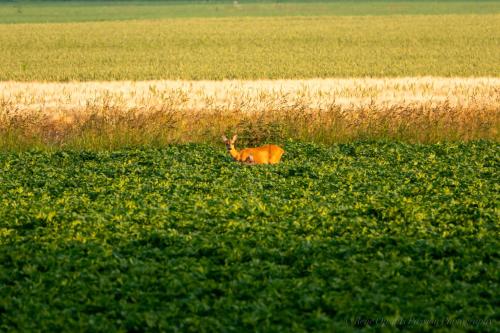
[{"label": "orange-brown deer standing in the leafy green crop, head raised", "polygon": [[237,151],[234,148],[234,143],[238,135],[234,135],[231,140],[222,136],[222,140],[226,144],[227,151],[231,157],[238,162],[245,164],[276,164],[280,162],[281,156],[285,152],[281,147],[276,145],[264,145],[255,148],[245,148]]}]

